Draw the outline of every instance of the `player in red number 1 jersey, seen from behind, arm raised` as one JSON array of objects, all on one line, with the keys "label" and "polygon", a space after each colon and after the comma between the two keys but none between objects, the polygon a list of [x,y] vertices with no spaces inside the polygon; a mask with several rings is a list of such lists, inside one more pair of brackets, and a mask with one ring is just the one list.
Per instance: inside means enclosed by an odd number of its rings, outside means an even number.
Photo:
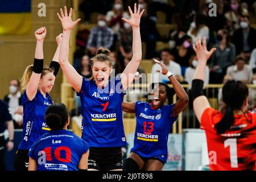
[{"label": "player in red number 1 jersey, seen from behind, arm raised", "polygon": [[222,89],[221,110],[210,107],[202,90],[207,60],[206,39],[196,39],[193,49],[198,65],[192,81],[193,108],[208,144],[210,170],[253,170],[256,162],[256,113],[247,111],[248,88],[241,81],[227,81]]}]

